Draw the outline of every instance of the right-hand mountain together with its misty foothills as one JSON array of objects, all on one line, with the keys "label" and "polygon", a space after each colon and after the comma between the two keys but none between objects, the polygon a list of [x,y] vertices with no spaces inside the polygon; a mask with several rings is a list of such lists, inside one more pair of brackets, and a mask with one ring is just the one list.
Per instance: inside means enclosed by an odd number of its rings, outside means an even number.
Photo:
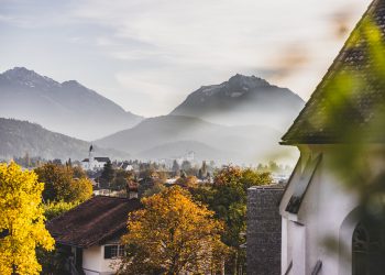
[{"label": "right-hand mountain together with its misty foothills", "polygon": [[96,141],[139,158],[173,158],[195,152],[219,163],[265,162],[293,155],[278,145],[304,101],[293,91],[255,76],[235,75],[190,94],[168,116]]}]

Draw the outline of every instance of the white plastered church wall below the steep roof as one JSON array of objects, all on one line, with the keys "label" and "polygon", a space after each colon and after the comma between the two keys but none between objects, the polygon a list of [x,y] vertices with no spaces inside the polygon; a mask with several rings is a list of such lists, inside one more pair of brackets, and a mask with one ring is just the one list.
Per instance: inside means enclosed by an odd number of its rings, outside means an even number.
[{"label": "white plastered church wall below the steep roof", "polygon": [[[319,147],[315,150],[319,152]],[[287,231],[283,231],[283,253],[282,265],[283,274],[286,272],[288,264],[293,260],[292,274],[311,274],[317,261],[322,261],[322,270],[320,274],[351,274],[350,265],[341,262],[338,253],[333,254],[329,251],[324,243],[330,237],[339,241],[341,227],[345,218],[352,209],[356,207],[356,198],[354,194],[346,190],[340,183],[340,179],[327,170],[326,167],[330,163],[327,150],[323,148],[323,157],[318,167],[311,184],[309,185],[305,198],[301,202],[298,215],[289,215],[283,212],[283,226]],[[298,173],[299,174],[299,173]],[[295,180],[298,175],[293,176],[293,185],[287,188],[283,198],[280,209],[284,211],[287,202],[293,194]],[[304,227],[296,224],[302,223]],[[355,227],[355,226],[354,226]],[[346,242],[351,242],[353,226],[350,226],[344,233]],[[305,235],[305,242],[300,237]],[[305,246],[304,246],[305,243]],[[304,252],[305,260],[304,260]],[[341,264],[343,263],[343,266]],[[299,266],[302,266],[301,270]],[[348,266],[348,267],[346,267]],[[348,268],[348,272],[346,272]]]}]

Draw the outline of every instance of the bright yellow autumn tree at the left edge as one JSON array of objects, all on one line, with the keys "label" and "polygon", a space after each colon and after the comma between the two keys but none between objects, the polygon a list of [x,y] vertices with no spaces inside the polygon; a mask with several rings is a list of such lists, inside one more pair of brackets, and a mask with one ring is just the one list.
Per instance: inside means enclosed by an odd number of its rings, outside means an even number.
[{"label": "bright yellow autumn tree at the left edge", "polygon": [[35,248],[53,250],[44,226],[44,184],[15,163],[0,164],[0,274],[38,274]]}]

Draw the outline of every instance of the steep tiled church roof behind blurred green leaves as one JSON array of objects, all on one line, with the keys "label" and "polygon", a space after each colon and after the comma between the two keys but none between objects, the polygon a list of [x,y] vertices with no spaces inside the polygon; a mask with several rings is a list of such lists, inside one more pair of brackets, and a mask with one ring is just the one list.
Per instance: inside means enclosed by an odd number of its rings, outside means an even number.
[{"label": "steep tiled church roof behind blurred green leaves", "polygon": [[[385,62],[370,54],[367,37],[374,35],[374,31],[365,33],[369,21],[375,23],[384,42],[384,0],[374,0],[369,7],[309,101],[282,138],[282,144],[333,144],[346,142],[352,136],[354,140],[354,134],[344,134],[346,125],[371,142],[385,142],[383,128],[371,127],[378,117],[374,113],[378,103],[385,106],[385,84],[372,73],[373,69],[383,69]],[[356,81],[342,82],[346,73]]]}]

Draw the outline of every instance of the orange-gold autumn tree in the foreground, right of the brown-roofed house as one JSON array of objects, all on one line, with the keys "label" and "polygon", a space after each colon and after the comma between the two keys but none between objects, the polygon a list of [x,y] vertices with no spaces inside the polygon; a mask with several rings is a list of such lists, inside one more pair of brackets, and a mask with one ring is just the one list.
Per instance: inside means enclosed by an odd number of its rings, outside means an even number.
[{"label": "orange-gold autumn tree in the foreground, right of the brown-roofed house", "polygon": [[228,248],[223,224],[180,187],[142,199],[144,209],[130,213],[122,238],[127,254],[118,274],[207,274],[218,272]]}]

